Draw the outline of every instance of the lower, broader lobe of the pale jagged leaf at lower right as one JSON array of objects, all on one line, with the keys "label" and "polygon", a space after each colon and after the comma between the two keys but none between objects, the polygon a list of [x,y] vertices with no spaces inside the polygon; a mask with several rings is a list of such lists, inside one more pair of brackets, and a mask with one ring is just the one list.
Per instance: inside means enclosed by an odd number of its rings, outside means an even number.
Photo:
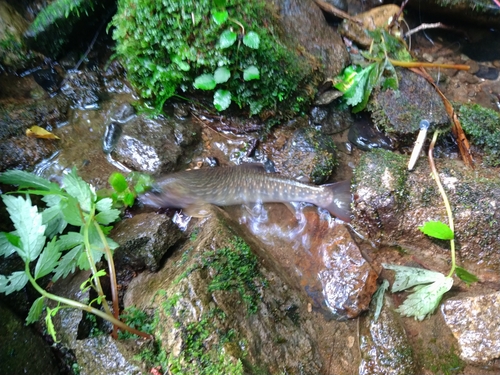
[{"label": "lower, broader lobe of the pale jagged leaf at lower right", "polygon": [[432,284],[416,286],[414,292],[406,298],[397,311],[401,315],[414,317],[417,320],[423,320],[427,315],[432,314],[443,295],[453,286],[451,277],[439,275],[441,278]]}]

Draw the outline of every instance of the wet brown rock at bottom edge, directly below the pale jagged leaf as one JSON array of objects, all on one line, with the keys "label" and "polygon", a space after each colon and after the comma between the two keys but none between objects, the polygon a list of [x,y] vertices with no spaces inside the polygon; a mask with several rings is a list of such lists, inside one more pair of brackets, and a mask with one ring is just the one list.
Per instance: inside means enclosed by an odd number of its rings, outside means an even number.
[{"label": "wet brown rock at bottom edge, directly below the pale jagged leaf", "polygon": [[360,375],[413,375],[415,364],[412,348],[401,322],[389,298],[377,321],[373,311],[360,327],[361,363]]}]

